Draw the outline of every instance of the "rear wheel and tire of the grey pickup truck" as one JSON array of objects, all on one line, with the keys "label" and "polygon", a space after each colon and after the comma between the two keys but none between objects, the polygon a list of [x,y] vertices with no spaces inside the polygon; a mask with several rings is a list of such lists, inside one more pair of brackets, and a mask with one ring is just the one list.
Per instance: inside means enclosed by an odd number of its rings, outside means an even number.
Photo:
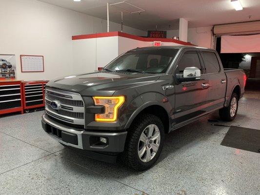
[{"label": "rear wheel and tire of the grey pickup truck", "polygon": [[219,111],[220,119],[224,121],[232,121],[237,116],[239,108],[239,98],[236,93],[231,95],[228,107],[221,108]]}]

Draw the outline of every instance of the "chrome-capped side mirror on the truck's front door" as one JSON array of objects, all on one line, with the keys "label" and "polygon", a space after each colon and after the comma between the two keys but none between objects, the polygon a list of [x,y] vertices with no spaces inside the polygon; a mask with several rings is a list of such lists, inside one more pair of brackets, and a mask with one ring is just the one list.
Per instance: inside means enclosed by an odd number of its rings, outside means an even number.
[{"label": "chrome-capped side mirror on the truck's front door", "polygon": [[183,74],[177,74],[176,76],[180,82],[194,81],[200,79],[200,69],[197,67],[187,67],[184,69]]}]

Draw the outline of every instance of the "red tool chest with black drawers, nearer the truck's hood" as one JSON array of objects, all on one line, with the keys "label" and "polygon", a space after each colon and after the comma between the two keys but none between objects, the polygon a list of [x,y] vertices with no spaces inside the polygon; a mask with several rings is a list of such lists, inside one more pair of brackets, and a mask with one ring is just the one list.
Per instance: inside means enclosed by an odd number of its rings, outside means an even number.
[{"label": "red tool chest with black drawers, nearer the truck's hood", "polygon": [[22,81],[23,90],[23,109],[28,112],[29,109],[44,107],[45,85],[48,81]]}]

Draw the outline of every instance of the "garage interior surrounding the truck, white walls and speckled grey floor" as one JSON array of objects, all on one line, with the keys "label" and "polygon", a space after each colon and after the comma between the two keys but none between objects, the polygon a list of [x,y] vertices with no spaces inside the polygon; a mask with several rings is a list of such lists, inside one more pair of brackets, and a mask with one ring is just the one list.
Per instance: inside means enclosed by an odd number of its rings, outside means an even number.
[{"label": "garage interior surrounding the truck, white walls and speckled grey floor", "polygon": [[[0,195],[260,194],[259,0],[1,0],[0,5]],[[164,34],[156,37],[157,32]],[[146,171],[120,159],[89,158],[42,129],[49,80],[100,71],[138,47],[180,45],[215,49],[224,68],[245,72],[245,93],[233,121],[215,112],[167,134],[160,158]],[[15,100],[1,99],[12,96]]]}]

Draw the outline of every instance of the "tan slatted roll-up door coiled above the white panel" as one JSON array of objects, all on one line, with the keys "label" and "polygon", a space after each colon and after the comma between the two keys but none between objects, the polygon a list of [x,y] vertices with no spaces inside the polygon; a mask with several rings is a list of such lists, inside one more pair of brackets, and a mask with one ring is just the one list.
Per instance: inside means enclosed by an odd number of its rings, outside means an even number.
[{"label": "tan slatted roll-up door coiled above the white panel", "polygon": [[260,21],[215,25],[213,32],[216,36],[257,34],[260,33]]}]

